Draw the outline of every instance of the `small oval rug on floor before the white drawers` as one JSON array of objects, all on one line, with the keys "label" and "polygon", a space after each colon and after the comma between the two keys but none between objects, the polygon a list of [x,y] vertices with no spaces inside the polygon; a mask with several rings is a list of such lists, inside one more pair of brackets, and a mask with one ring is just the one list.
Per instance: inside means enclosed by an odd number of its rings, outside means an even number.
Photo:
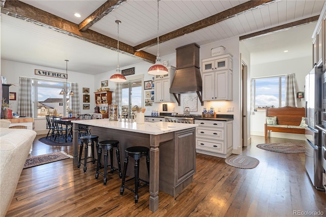
[{"label": "small oval rug on floor before the white drawers", "polygon": [[232,167],[240,169],[253,169],[259,164],[258,159],[246,155],[231,155],[225,159],[225,162]]}]

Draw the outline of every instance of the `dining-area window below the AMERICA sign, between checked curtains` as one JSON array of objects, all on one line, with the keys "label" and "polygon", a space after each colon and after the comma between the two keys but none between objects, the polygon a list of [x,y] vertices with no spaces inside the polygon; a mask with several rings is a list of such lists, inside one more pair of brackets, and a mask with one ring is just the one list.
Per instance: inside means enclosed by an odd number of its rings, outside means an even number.
[{"label": "dining-area window below the AMERICA sign, between checked curtains", "polygon": [[[69,107],[69,95],[60,95],[62,88],[66,89],[66,82],[32,79],[34,117],[42,118],[53,115],[57,110],[58,116],[66,116]],[[70,84],[67,84],[70,88]]]}]

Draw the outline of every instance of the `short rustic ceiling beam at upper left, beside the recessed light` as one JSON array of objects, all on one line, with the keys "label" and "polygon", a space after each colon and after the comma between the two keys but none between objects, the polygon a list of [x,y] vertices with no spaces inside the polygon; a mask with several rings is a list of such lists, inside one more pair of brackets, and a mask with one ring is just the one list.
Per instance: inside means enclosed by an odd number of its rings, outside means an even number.
[{"label": "short rustic ceiling beam at upper left, beside the recessed light", "polygon": [[125,3],[126,1],[106,1],[101,7],[96,9],[91,15],[89,15],[86,19],[78,24],[79,31],[85,32],[88,30],[92,25],[98,22],[107,14],[111,13],[114,9],[118,8],[120,5]]}]

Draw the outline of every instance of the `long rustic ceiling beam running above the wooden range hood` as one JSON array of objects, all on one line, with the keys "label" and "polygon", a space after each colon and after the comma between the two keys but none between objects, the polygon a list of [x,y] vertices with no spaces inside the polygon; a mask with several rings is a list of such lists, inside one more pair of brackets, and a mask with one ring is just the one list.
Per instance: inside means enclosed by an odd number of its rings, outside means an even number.
[{"label": "long rustic ceiling beam running above the wooden range hood", "polygon": [[[195,32],[197,30],[206,28],[207,26],[213,25],[218,22],[222,22],[226,19],[229,19],[231,17],[234,17],[238,14],[241,14],[248,10],[253,10],[254,8],[263,6],[265,4],[269,4],[275,2],[275,0],[254,0],[254,1],[248,1],[246,3],[240,4],[238,6],[235,6],[233,8],[230,8],[228,10],[222,11],[221,13],[212,15],[210,17],[207,17],[205,19],[199,20],[197,22],[194,22],[192,24],[183,26],[182,28],[172,31],[170,33],[167,33],[165,35],[159,36],[159,42],[165,42],[169,41],[171,39],[175,39],[177,37],[183,36],[188,33]],[[134,50],[139,51],[143,50],[147,47],[151,47],[157,44],[157,38],[153,38],[149,41],[146,41],[144,43],[141,43],[139,45],[134,46]]]}]

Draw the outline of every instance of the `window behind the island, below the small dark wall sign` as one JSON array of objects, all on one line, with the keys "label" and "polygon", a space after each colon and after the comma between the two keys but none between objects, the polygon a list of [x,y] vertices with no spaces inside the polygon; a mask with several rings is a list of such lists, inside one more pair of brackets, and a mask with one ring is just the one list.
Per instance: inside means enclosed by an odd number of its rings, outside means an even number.
[{"label": "window behind the island, below the small dark wall sign", "polygon": [[121,84],[122,115],[130,117],[130,111],[132,111],[133,106],[142,107],[142,84],[142,79],[130,80]]}]

